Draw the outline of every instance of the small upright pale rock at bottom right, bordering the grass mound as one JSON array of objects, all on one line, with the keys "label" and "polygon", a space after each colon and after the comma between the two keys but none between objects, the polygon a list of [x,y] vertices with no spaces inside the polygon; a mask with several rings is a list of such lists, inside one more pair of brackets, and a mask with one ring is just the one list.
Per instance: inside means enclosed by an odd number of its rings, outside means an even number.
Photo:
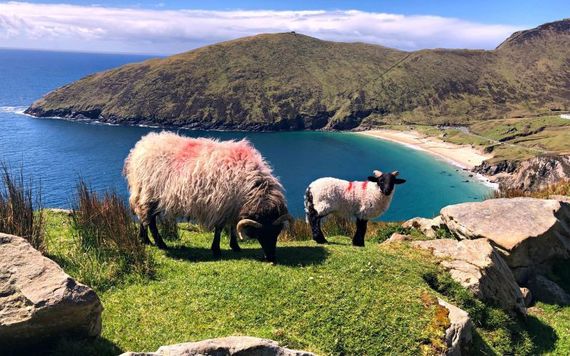
[{"label": "small upright pale rock at bottom right, bordering the grass mound", "polygon": [[463,350],[466,350],[468,345],[471,344],[473,323],[469,314],[445,302],[442,299],[437,299],[439,305],[449,311],[449,327],[445,330],[445,343],[447,344],[446,355],[459,356]]}]

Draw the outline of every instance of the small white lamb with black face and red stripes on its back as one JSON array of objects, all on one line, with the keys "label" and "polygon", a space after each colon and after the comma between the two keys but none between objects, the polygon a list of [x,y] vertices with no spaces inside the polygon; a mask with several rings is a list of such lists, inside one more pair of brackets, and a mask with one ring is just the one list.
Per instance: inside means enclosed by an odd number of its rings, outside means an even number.
[{"label": "small white lamb with black face and red stripes on its back", "polygon": [[[394,196],[394,186],[406,182],[396,178],[397,171],[382,173],[375,170],[373,174],[364,182],[348,182],[327,177],[309,184],[305,191],[305,213],[313,239],[317,243],[327,242],[321,230],[321,219],[329,214],[336,214],[356,218],[356,233],[352,244],[364,246],[368,220],[386,212]],[[369,182],[376,184],[368,184]]]}]

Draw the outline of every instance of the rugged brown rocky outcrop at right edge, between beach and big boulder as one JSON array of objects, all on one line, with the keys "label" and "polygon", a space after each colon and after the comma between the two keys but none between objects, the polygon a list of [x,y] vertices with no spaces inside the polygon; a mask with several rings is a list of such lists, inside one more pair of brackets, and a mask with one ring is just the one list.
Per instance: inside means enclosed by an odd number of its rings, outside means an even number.
[{"label": "rugged brown rocky outcrop at right edge, between beach and big boulder", "polygon": [[492,176],[501,189],[535,191],[570,180],[570,156],[540,156],[526,161],[483,162],[474,172]]}]

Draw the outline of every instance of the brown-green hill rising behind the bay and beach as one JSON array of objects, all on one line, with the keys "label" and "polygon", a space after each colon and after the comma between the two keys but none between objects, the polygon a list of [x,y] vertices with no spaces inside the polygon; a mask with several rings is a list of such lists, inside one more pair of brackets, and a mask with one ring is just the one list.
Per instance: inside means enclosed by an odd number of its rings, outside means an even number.
[{"label": "brown-green hill rising behind the bay and beach", "polygon": [[199,129],[458,124],[570,110],[570,19],[495,50],[404,52],[262,34],[96,73],[27,113]]}]

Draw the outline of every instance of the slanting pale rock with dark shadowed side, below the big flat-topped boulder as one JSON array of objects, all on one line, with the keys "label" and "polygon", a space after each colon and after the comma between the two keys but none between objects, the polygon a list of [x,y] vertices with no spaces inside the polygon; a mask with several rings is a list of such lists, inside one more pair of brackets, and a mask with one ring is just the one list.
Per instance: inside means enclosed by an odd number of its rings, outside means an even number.
[{"label": "slanting pale rock with dark shadowed side, below the big flat-topped boulder", "polygon": [[451,277],[477,298],[526,313],[523,296],[509,266],[487,239],[415,241],[430,250]]}]

